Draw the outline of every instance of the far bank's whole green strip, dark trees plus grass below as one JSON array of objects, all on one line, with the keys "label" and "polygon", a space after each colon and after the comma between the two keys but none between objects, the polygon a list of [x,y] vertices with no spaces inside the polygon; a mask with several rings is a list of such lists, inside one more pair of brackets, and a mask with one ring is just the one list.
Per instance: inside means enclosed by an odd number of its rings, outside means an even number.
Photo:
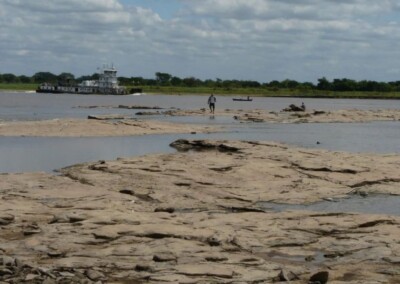
[{"label": "far bank's whole green strip, dark trees plus grass below", "polygon": [[[97,80],[99,74],[75,78],[71,73],[59,75],[38,72],[32,77],[0,74],[2,90],[35,90],[41,83],[77,84],[83,80]],[[210,94],[270,96],[270,97],[312,97],[312,98],[374,98],[400,99],[400,81],[376,82],[355,81],[351,79],[318,79],[317,84],[294,80],[259,83],[249,80],[200,80],[194,77],[179,78],[168,73],[155,73],[154,79],[142,77],[118,77],[121,85],[141,88],[145,93],[161,94]]]}]

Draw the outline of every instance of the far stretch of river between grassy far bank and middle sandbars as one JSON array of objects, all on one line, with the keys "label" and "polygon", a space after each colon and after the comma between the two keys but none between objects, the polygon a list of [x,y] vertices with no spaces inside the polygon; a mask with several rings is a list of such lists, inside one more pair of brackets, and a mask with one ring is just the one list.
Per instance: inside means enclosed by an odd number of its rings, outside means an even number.
[{"label": "far stretch of river between grassy far bank and middle sandbars", "polygon": [[[110,109],[118,105],[158,106],[161,108],[208,108],[208,96],[144,95],[99,96],[76,94],[36,94],[0,91],[0,119],[33,120],[62,117],[86,117],[88,114],[133,114],[135,110]],[[290,104],[304,102],[307,109],[393,109],[400,108],[400,100],[365,99],[308,99],[254,97],[252,102],[234,102],[232,97],[218,96],[219,109],[265,109],[280,111]],[[103,108],[80,108],[102,106]]]}]

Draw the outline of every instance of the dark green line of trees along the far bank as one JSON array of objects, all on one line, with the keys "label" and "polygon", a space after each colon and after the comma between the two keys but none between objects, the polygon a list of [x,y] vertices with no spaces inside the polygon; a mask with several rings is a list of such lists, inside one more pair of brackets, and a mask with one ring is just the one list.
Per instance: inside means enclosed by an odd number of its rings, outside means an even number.
[{"label": "dark green line of trees along the far bank", "polygon": [[[53,83],[53,84],[76,84],[84,80],[97,80],[98,73],[75,78],[71,73],[59,75],[50,72],[37,72],[32,77],[16,76],[14,74],[0,74],[0,83]],[[121,85],[125,86],[173,86],[173,87],[208,87],[208,88],[266,88],[269,90],[291,89],[291,90],[321,90],[334,92],[400,92],[400,81],[376,82],[369,80],[356,81],[351,79],[333,79],[329,81],[325,77],[318,79],[318,83],[297,82],[295,80],[271,81],[260,83],[251,80],[200,80],[194,77],[179,78],[168,73],[157,72],[155,78],[143,77],[118,77]]]}]

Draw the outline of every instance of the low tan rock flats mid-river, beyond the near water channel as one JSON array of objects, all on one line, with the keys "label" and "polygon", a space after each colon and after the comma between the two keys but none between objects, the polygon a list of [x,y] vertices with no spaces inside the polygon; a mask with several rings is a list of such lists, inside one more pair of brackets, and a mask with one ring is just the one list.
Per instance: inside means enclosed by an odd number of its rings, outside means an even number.
[{"label": "low tan rock flats mid-river, beyond the near water channel", "polygon": [[[92,108],[93,106],[91,106]],[[124,106],[129,107],[129,106]],[[141,112],[139,117],[207,116],[205,108],[197,110],[165,110]],[[336,110],[336,111],[267,111],[267,110],[216,110],[213,116],[231,116],[242,123],[354,123],[373,121],[400,121],[400,110]],[[0,121],[0,136],[48,137],[100,137],[146,134],[210,133],[221,127],[188,123],[162,122],[150,119],[129,118],[109,114],[88,116],[88,119],[62,118],[37,121]]]}]

